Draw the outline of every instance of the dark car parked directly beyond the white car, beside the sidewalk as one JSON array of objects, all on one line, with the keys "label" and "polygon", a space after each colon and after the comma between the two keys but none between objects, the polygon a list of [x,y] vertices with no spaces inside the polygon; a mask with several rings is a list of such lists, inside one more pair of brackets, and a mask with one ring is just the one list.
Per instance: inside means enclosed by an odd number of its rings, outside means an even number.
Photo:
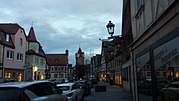
[{"label": "dark car parked directly beyond the white car, beside the sidewalk", "polygon": [[76,85],[82,87],[84,96],[91,94],[91,87],[87,80],[78,80],[76,81]]}]

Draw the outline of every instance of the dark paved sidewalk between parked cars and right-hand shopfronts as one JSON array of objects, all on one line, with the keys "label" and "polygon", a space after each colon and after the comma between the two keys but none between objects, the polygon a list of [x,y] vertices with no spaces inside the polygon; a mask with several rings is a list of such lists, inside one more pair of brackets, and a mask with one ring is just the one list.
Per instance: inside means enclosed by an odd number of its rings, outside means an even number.
[{"label": "dark paved sidewalk between parked cars and right-hand shopfronts", "polygon": [[93,88],[91,95],[87,96],[85,101],[132,101],[132,95],[120,86],[102,81],[99,81],[97,85],[105,85],[106,92],[95,92]]}]

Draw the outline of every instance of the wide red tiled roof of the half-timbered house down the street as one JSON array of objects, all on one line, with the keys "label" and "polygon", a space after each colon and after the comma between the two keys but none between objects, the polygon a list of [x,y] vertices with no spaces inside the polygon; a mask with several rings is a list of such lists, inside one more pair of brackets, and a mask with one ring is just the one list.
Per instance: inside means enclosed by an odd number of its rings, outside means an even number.
[{"label": "wide red tiled roof of the half-timbered house down the street", "polygon": [[68,64],[67,54],[46,54],[49,66],[66,66]]}]

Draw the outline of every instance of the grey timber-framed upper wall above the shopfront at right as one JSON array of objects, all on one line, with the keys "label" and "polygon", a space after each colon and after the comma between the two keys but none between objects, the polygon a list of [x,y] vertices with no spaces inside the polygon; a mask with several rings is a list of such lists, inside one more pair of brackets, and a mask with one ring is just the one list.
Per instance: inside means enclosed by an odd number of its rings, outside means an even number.
[{"label": "grey timber-framed upper wall above the shopfront at right", "polygon": [[137,8],[137,1],[131,0],[132,32],[134,41],[148,30],[175,0],[138,1],[142,1],[141,9]]}]

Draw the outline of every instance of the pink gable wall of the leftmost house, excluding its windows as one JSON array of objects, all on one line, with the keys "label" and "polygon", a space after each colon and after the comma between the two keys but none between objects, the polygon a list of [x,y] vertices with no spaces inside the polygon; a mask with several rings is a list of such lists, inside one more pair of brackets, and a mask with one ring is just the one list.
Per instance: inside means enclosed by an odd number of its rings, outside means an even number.
[{"label": "pink gable wall of the leftmost house, excluding its windows", "polygon": [[[21,80],[23,80],[24,73],[24,65],[25,65],[25,52],[26,52],[26,36],[25,32],[22,29],[19,29],[17,33],[14,35],[12,34],[12,40],[15,45],[15,49],[5,47],[4,48],[4,68],[5,68],[5,74],[11,73],[7,68],[15,70],[13,73],[16,73],[17,75],[21,75]],[[22,39],[22,46],[20,45],[20,38]],[[7,50],[11,50],[14,52],[13,59],[7,59]],[[23,55],[22,61],[17,60],[17,53],[20,53]],[[11,76],[12,74],[11,73]],[[16,76],[17,77],[17,76]],[[20,79],[19,79],[20,80]],[[20,81],[21,81],[20,80]]]}]

